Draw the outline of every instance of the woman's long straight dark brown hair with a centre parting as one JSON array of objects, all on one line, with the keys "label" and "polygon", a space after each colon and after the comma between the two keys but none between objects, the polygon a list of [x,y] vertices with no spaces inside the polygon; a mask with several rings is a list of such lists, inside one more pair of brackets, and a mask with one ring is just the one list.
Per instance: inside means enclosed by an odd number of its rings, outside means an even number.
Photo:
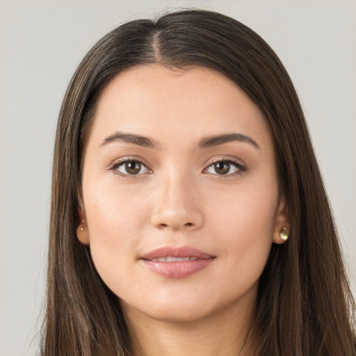
[{"label": "woman's long straight dark brown hair with a centre parting", "polygon": [[90,49],[70,82],[54,152],[42,355],[130,355],[118,297],[102,282],[76,227],[81,161],[97,99],[113,76],[147,63],[217,70],[249,95],[268,123],[291,234],[288,243],[273,244],[260,278],[254,355],[355,355],[355,305],[291,79],[254,31],[195,9],[119,26]]}]

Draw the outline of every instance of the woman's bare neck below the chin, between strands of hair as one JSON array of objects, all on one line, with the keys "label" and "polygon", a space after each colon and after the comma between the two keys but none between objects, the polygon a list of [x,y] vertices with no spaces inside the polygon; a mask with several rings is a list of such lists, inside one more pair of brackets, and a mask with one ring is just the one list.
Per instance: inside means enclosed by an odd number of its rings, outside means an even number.
[{"label": "woman's bare neck below the chin, between strands of hair", "polygon": [[133,356],[249,356],[254,305],[229,305],[195,321],[159,321],[122,302]]}]

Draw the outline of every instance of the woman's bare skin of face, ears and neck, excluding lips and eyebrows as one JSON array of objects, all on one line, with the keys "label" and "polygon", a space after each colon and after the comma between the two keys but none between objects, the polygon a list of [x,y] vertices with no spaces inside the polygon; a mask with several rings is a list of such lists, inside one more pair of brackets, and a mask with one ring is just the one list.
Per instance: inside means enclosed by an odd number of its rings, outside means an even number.
[{"label": "woman's bare skin of face, ears and neck, excluding lips and eyebrows", "polygon": [[[103,145],[118,131],[159,147]],[[258,147],[246,141],[197,147],[202,138],[225,133],[248,136]],[[138,174],[113,165],[127,158],[143,162]],[[230,163],[218,174],[214,163],[227,159],[243,168]],[[133,354],[249,355],[253,332],[243,343],[259,277],[289,222],[272,139],[248,96],[201,67],[142,65],[118,74],[99,99],[82,183],[78,238],[90,245],[99,275],[120,298]],[[216,258],[189,277],[167,278],[140,260],[165,245]]]}]

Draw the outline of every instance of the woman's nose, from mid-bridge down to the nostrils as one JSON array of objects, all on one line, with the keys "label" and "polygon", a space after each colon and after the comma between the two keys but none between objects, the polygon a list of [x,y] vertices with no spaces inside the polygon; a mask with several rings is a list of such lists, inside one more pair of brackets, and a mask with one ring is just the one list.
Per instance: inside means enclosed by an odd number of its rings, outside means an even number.
[{"label": "woman's nose, from mid-bridge down to the nostrils", "polygon": [[193,231],[202,226],[200,200],[191,183],[181,175],[170,175],[157,182],[152,196],[152,225],[175,231]]}]

